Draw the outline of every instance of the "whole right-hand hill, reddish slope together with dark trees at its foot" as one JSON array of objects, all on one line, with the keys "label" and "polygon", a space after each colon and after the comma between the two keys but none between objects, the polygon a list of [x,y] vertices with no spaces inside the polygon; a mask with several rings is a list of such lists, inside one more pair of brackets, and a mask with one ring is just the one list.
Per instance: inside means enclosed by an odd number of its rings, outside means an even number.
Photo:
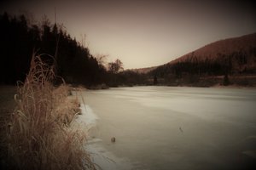
[{"label": "whole right-hand hill, reddish slope together with dark trees at its foot", "polygon": [[[192,86],[195,82],[202,81],[202,77],[206,80],[206,77],[224,75],[256,75],[256,33],[212,42],[165,65],[155,67],[148,75],[159,77],[163,84],[185,82],[185,85]],[[216,81],[213,82],[212,84]]]}]

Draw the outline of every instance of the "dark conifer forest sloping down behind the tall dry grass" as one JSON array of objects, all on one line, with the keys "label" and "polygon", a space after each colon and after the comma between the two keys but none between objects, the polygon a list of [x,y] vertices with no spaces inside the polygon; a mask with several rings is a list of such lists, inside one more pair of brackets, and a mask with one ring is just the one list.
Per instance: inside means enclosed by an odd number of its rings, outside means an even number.
[{"label": "dark conifer forest sloping down behind the tall dry grass", "polygon": [[123,71],[123,63],[116,59],[103,65],[90,49],[56,23],[51,24],[44,16],[40,24],[28,22],[24,14],[0,15],[1,26],[1,84],[24,81],[29,71],[32,53],[41,55],[49,64],[55,62],[55,73],[68,83],[84,84],[87,87],[105,83],[110,86],[136,84],[143,76]]}]

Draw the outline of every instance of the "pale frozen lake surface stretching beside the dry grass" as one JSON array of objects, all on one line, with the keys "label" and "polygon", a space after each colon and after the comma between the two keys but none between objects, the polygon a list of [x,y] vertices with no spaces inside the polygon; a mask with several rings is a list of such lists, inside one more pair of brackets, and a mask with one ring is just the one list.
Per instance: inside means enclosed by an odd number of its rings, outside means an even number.
[{"label": "pale frozen lake surface stretching beside the dry grass", "polygon": [[256,169],[255,89],[111,88],[83,97],[84,114],[95,114],[88,150],[103,169]]}]

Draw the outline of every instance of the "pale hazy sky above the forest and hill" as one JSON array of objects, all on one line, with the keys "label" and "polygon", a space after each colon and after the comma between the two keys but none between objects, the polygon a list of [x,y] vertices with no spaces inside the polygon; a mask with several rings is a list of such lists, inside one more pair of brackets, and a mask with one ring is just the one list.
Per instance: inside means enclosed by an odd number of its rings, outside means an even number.
[{"label": "pale hazy sky above the forest and hill", "polygon": [[[207,43],[256,32],[253,1],[55,0],[1,3],[0,12],[46,14],[91,54],[120,59],[125,69],[163,65]],[[32,3],[33,2],[33,3]]]}]

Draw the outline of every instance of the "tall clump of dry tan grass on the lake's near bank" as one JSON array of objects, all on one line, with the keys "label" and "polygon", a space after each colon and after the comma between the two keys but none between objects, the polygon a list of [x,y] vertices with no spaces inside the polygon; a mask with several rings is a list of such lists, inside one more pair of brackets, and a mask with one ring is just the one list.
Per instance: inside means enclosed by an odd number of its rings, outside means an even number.
[{"label": "tall clump of dry tan grass on the lake's near bank", "polygon": [[85,132],[69,126],[79,104],[67,100],[67,86],[54,88],[54,78],[53,67],[33,54],[9,122],[9,169],[95,169],[84,150]]}]

